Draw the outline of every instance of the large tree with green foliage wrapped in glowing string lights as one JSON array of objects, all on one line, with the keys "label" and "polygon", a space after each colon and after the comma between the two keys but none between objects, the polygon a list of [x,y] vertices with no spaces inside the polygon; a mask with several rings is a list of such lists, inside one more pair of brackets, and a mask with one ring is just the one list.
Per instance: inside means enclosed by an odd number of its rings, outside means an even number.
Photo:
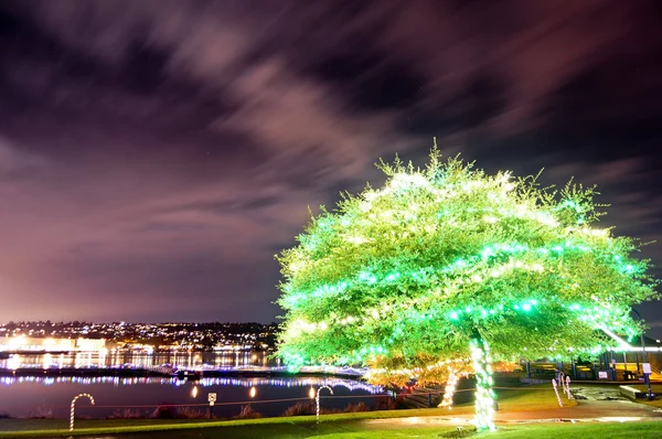
[{"label": "large tree with green foliage wrapped in glowing string lights", "polygon": [[489,427],[492,360],[588,356],[615,343],[606,333],[639,333],[630,306],[655,282],[634,240],[596,227],[592,189],[541,189],[436,150],[423,170],[381,169],[383,189],[322,208],[278,256],[291,366],[383,378],[472,360]]}]

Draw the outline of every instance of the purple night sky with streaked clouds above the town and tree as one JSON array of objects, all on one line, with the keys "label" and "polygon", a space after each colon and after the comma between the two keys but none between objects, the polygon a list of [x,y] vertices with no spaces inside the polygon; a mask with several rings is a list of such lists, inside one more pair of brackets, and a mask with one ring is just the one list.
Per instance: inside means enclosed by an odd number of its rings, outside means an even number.
[{"label": "purple night sky with streaked clouds above the town and tree", "polygon": [[[0,322],[263,321],[308,206],[424,163],[662,233],[660,1],[3,1]],[[645,248],[662,266],[662,244]],[[662,269],[655,271],[662,275]],[[662,306],[642,314],[662,335]]]}]

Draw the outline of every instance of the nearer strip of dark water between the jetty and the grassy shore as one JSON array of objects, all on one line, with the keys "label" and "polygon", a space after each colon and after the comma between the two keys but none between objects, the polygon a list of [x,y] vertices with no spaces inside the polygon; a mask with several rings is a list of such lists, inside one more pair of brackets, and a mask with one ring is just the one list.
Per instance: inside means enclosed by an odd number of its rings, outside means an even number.
[{"label": "nearer strip of dark water between the jetty and the grassy shore", "polygon": [[323,406],[343,408],[363,401],[375,406],[376,395],[383,392],[352,379],[320,377],[288,378],[202,378],[197,382],[177,378],[119,377],[0,377],[0,414],[12,417],[68,416],[72,398],[81,393],[92,394],[96,405],[86,399],[77,403],[76,414],[94,419],[131,410],[149,417],[160,405],[190,407],[207,413],[207,395],[216,394],[214,414],[232,417],[243,405],[266,416],[281,415],[297,401],[310,401],[311,388],[321,385],[333,388],[334,398],[324,398]]}]

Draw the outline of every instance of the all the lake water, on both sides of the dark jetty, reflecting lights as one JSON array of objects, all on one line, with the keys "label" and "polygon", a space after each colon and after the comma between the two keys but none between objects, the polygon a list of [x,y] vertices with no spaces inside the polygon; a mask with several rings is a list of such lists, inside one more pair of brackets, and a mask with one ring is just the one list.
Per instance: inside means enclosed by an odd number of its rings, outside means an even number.
[{"label": "all the lake water, on both sides of the dark jetty, reflecting lights", "polygon": [[[170,363],[180,367],[204,365],[242,366],[276,365],[264,353],[186,353],[178,355],[146,354],[71,354],[71,355],[21,355],[0,361],[2,368],[34,367],[110,367],[122,364],[161,365]],[[36,371],[35,371],[36,372]],[[218,417],[232,417],[239,413],[243,405],[265,416],[281,415],[298,401],[313,401],[314,393],[322,385],[333,388],[333,397],[322,398],[322,407],[344,408],[348,404],[363,401],[375,407],[387,398],[380,387],[354,379],[333,377],[241,377],[202,378],[200,381],[180,381],[178,378],[122,378],[122,377],[43,377],[43,376],[3,376],[0,377],[0,414],[13,417],[53,416],[67,418],[70,404],[74,396],[88,393],[95,398],[92,406],[86,398],[76,403],[76,415],[92,418],[105,418],[116,413],[131,410],[148,416],[163,404],[179,406],[182,410],[207,413],[207,396],[216,394],[213,408]],[[322,390],[321,395],[329,395]],[[178,407],[173,408],[177,409]]]}]

